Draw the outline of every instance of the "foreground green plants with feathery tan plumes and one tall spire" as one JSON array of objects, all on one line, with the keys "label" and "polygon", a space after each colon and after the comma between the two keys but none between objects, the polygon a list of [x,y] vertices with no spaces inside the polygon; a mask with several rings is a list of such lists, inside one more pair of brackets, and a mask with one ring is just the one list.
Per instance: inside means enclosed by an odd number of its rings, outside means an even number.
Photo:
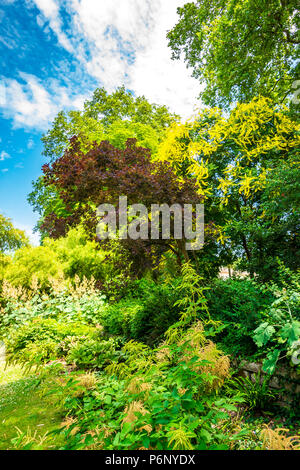
[{"label": "foreground green plants with feathery tan plumes and one tall spire", "polygon": [[[183,283],[191,274],[186,265]],[[188,293],[176,341],[174,331],[169,331],[167,343],[154,350],[127,342],[121,350],[123,360],[106,367],[96,389],[83,396],[72,393],[76,382],[69,380],[65,406],[73,421],[64,430],[65,448],[222,449],[242,435],[231,436],[218,425],[242,399],[217,398],[229,361],[207,340],[197,321],[198,312],[206,310],[204,300],[190,299],[189,305],[187,298]],[[203,299],[201,289],[198,299]]]}]

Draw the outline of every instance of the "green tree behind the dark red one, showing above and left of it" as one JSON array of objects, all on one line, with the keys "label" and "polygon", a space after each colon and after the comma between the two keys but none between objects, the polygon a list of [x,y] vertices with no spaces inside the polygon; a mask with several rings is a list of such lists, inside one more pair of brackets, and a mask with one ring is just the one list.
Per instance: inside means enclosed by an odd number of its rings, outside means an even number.
[{"label": "green tree behind the dark red one, showing above and left of it", "polygon": [[[92,99],[85,102],[83,111],[58,113],[51,129],[42,137],[43,154],[50,162],[57,160],[69,147],[74,135],[80,140],[84,151],[88,151],[94,142],[100,144],[103,140],[125,149],[127,139],[134,138],[138,146],[148,148],[155,154],[164,130],[177,117],[165,106],[151,104],[143,96],[134,97],[124,86],[111,94],[104,88],[98,88]],[[43,176],[33,183],[28,200],[40,214],[38,227],[50,214],[61,217],[71,215],[57,188],[46,186]],[[47,232],[42,230],[42,237],[45,235]]]}]

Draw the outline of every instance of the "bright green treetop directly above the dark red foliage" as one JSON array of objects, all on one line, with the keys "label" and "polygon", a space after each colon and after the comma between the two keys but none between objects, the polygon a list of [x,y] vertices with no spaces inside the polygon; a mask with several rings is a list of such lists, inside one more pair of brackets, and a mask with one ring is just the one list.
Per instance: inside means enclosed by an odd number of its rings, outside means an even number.
[{"label": "bright green treetop directly above the dark red foliage", "polygon": [[83,111],[60,112],[53,127],[43,137],[44,155],[50,160],[61,156],[73,135],[85,141],[109,140],[123,147],[126,140],[137,138],[138,144],[154,150],[161,132],[175,116],[165,106],[150,104],[145,97],[134,98],[120,87],[112,94],[97,88]]}]

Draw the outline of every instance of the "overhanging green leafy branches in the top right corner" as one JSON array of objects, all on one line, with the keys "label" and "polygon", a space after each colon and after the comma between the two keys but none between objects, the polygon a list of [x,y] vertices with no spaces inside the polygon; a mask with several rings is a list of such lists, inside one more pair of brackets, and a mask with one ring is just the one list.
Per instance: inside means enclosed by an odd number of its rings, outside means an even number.
[{"label": "overhanging green leafy branches in the top right corner", "polygon": [[209,105],[256,95],[284,100],[299,77],[296,0],[197,0],[178,9],[168,33],[173,58],[184,56],[205,84]]}]

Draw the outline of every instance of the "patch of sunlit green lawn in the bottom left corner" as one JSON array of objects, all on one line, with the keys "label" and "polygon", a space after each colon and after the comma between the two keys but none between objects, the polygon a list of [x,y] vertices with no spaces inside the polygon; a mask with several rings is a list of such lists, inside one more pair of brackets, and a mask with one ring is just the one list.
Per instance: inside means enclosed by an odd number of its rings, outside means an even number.
[{"label": "patch of sunlit green lawn in the bottom left corner", "polygon": [[[23,374],[19,365],[0,362],[0,450],[15,448],[55,449],[62,444],[57,434],[62,415],[49,399],[47,383],[34,374]],[[42,393],[43,392],[43,393]]]}]

